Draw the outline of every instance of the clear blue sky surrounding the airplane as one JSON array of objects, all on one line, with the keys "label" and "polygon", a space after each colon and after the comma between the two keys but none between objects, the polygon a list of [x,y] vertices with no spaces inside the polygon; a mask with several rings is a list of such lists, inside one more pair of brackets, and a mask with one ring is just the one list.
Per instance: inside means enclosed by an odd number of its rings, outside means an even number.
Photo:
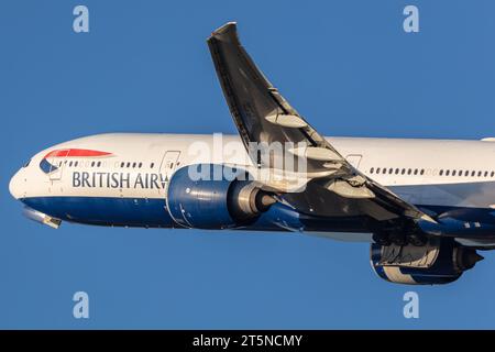
[{"label": "clear blue sky surrounding the airplane", "polygon": [[[85,4],[90,32],[73,32]],[[403,31],[403,9],[420,32]],[[2,1],[0,328],[495,328],[495,255],[448,286],[388,284],[369,245],[21,216],[37,151],[101,132],[235,133],[206,37],[227,21],[327,135],[494,136],[493,1]],[[425,152],[425,151],[422,151]],[[492,162],[492,161],[490,161]],[[420,318],[405,319],[416,290]],[[73,318],[85,290],[90,319]]]}]

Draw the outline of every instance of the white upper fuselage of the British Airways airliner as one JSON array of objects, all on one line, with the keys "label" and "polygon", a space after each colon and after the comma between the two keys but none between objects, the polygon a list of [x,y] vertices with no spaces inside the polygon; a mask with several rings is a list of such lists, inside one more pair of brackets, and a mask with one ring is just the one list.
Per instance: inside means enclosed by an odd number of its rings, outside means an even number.
[{"label": "white upper fuselage of the British Airways airliner", "polygon": [[[242,148],[237,135],[227,135],[222,140],[223,145],[237,143]],[[386,187],[490,184],[495,180],[493,142],[369,138],[329,138],[329,141],[354,167]],[[196,147],[191,147],[195,144]],[[40,161],[51,151],[64,148],[108,151],[111,156],[58,157],[56,162],[61,164],[61,170],[56,175],[45,175],[38,167]],[[198,150],[201,150],[201,153],[198,153]],[[177,153],[172,160],[164,160],[167,152]],[[226,150],[224,153],[229,152]],[[77,166],[75,162],[78,162]],[[99,166],[98,162],[101,162]],[[212,135],[208,134],[99,134],[61,143],[37,153],[32,157],[29,167],[21,168],[12,178],[10,189],[15,198],[43,196],[160,198],[164,196],[164,190],[152,187],[144,189],[72,187],[72,175],[78,170],[130,173],[131,177],[139,173],[160,173],[169,177],[177,166],[191,163],[229,163],[241,166],[251,164],[245,153],[238,153],[233,157],[219,154],[215,150]],[[492,188],[485,191],[458,199],[455,204],[436,200],[430,194],[415,194],[411,197],[420,200],[419,202],[427,201],[432,205],[488,208],[495,205],[495,191]]]}]

